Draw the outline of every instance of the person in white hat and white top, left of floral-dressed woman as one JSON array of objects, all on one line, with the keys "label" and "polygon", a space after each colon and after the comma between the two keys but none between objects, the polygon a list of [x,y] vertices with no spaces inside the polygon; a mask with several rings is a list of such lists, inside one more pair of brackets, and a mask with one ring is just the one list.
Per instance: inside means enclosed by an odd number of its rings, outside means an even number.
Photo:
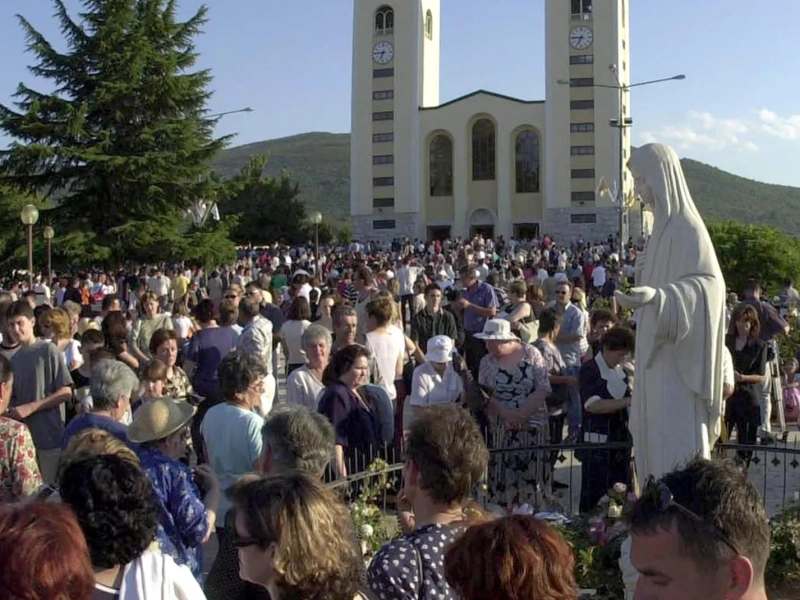
[{"label": "person in white hat and white top, left of floral-dressed woman", "polygon": [[[464,382],[453,369],[453,340],[446,335],[435,335],[428,340],[425,362],[414,369],[411,379],[411,406],[406,415],[426,406],[459,402],[464,393]],[[411,420],[405,418],[403,429]]]}]

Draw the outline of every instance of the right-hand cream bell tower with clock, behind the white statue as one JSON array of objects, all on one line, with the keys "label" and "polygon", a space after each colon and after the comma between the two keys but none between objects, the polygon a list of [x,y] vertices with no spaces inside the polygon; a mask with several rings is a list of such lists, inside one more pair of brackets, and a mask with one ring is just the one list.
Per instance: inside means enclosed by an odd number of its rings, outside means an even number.
[{"label": "right-hand cream bell tower with clock, behind the white statue", "polygon": [[[570,239],[616,237],[618,197],[633,187],[624,168],[630,157],[628,3],[545,4],[547,229]],[[609,191],[598,193],[601,180]],[[627,237],[627,219],[622,230]]]}]

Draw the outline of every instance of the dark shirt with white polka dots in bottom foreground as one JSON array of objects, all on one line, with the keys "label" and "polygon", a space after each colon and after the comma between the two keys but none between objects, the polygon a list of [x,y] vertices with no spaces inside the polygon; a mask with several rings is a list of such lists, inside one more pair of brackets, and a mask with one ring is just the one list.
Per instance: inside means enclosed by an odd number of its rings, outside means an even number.
[{"label": "dark shirt with white polka dots in bottom foreground", "polygon": [[463,525],[434,523],[386,544],[367,569],[367,585],[380,600],[457,600],[444,578],[444,555]]}]

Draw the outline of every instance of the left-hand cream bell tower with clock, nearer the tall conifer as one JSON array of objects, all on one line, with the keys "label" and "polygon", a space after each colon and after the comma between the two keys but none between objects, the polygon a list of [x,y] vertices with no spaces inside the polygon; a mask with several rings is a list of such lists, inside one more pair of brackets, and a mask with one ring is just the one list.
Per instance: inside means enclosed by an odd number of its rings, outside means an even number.
[{"label": "left-hand cream bell tower with clock, nearer the tall conifer", "polygon": [[357,239],[421,235],[419,109],[439,104],[439,0],[355,0],[350,215]]}]

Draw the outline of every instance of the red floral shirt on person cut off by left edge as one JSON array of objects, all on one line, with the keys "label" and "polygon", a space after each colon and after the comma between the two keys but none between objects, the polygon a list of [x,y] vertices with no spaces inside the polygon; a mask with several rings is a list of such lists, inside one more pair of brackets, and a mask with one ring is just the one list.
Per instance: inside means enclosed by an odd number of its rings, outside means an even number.
[{"label": "red floral shirt on person cut off by left edge", "polygon": [[0,417],[0,504],[30,496],[41,486],[36,448],[27,425]]}]

